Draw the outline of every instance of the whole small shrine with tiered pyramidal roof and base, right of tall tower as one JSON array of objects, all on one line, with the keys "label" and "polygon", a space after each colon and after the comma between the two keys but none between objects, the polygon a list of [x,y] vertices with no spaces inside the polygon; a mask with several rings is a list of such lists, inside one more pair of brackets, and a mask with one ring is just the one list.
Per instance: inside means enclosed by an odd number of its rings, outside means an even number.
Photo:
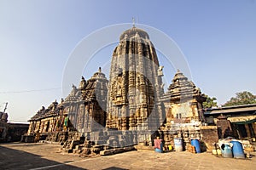
[{"label": "whole small shrine with tiered pyramidal roof and base, right of tall tower", "polygon": [[165,141],[166,147],[175,145],[175,139],[179,139],[183,142],[181,150],[185,150],[191,139],[201,139],[201,127],[204,124],[202,103],[206,97],[194,82],[177,70],[160,100],[165,105],[166,121],[156,135]]}]

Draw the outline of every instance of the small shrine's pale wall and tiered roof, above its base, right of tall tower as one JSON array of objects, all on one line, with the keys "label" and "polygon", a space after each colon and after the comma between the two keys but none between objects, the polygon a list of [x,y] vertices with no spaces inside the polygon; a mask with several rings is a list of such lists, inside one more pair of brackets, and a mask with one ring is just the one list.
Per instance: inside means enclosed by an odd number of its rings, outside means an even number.
[{"label": "small shrine's pale wall and tiered roof, above its base, right of tall tower", "polygon": [[166,125],[173,123],[204,122],[202,102],[206,100],[200,88],[196,88],[183,73],[177,71],[161,101],[166,107]]}]

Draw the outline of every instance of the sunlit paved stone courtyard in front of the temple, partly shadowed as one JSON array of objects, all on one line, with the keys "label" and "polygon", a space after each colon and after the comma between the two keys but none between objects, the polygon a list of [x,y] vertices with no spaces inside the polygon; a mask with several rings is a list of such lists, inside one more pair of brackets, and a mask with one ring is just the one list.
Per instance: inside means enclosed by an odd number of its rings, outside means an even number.
[{"label": "sunlit paved stone courtyard in front of the temple, partly shadowed", "polygon": [[138,150],[113,156],[81,158],[63,154],[56,144],[0,144],[0,169],[254,169],[253,158],[222,158],[211,153],[187,151],[155,153]]}]

